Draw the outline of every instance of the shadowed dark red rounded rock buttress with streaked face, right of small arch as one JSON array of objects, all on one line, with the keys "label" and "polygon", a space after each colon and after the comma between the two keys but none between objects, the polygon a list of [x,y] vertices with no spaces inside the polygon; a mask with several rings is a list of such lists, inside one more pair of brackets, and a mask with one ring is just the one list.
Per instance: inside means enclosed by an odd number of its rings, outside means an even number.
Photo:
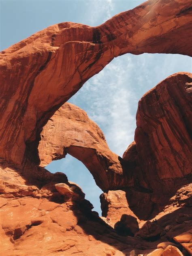
[{"label": "shadowed dark red rounded rock buttress with streaked face, right of small arch", "polygon": [[[163,204],[191,181],[192,74],[176,73],[139,101],[135,142],[124,153],[134,186]],[[161,195],[161,196],[160,196]]]}]

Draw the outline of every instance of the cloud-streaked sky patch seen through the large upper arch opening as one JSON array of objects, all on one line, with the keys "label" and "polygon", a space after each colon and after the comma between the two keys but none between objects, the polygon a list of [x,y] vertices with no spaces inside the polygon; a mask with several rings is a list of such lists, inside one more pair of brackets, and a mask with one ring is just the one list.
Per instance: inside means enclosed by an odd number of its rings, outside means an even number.
[{"label": "cloud-streaked sky patch seen through the large upper arch opening", "polygon": [[127,54],[115,58],[87,81],[70,102],[83,108],[105,134],[111,150],[122,156],[134,140],[139,99],[178,71],[190,71],[188,56]]}]

